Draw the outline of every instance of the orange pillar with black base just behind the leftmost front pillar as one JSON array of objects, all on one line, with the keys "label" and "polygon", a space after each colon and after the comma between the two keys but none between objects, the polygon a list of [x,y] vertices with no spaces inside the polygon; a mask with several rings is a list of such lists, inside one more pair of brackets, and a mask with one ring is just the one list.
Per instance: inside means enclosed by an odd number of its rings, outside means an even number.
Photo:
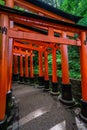
[{"label": "orange pillar with black base just behind the leftmost front pillar", "polygon": [[[12,114],[12,49],[13,40],[10,38],[8,42],[8,65],[7,65],[7,96],[6,96],[6,115],[9,118]],[[17,78],[17,77],[15,77]],[[9,105],[10,104],[10,105]]]}]

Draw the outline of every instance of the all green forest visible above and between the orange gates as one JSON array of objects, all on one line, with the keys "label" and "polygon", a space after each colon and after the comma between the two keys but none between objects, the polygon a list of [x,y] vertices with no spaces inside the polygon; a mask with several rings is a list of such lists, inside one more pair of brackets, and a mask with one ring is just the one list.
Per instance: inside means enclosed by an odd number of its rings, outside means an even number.
[{"label": "all green forest visible above and between the orange gates", "polygon": [[[61,9],[67,13],[82,16],[83,18],[77,23],[83,26],[87,26],[87,0],[39,0],[43,1],[55,8]],[[0,0],[0,4],[4,5],[4,0]],[[16,9],[24,10],[15,6]],[[37,52],[34,57],[34,71],[38,74],[38,56]],[[79,57],[79,47],[68,46],[68,57],[69,57],[69,74],[70,78],[80,79],[80,57]],[[49,61],[49,74],[52,74],[52,55],[48,56]],[[62,76],[61,71],[61,54],[57,51],[57,70],[58,76]]]}]

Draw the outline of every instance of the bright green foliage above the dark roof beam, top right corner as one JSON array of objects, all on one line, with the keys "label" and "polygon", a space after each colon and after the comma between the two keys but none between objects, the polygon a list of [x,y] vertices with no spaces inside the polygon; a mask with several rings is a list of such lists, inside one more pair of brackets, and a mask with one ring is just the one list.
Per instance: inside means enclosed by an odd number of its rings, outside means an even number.
[{"label": "bright green foliage above the dark roof beam, top right corner", "polygon": [[61,10],[82,16],[78,24],[87,26],[87,0],[40,0],[52,5],[54,7],[60,8]]}]

